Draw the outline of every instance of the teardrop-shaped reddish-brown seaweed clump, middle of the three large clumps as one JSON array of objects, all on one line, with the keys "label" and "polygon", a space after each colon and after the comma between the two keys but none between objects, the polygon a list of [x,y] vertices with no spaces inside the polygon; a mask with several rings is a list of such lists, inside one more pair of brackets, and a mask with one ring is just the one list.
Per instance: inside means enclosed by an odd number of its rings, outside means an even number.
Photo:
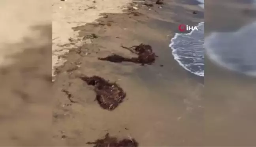
[{"label": "teardrop-shaped reddish-brown seaweed clump, middle of the three large clumps", "polygon": [[100,76],[81,76],[81,79],[88,85],[94,86],[96,100],[103,109],[114,110],[126,97],[126,93],[119,85]]}]

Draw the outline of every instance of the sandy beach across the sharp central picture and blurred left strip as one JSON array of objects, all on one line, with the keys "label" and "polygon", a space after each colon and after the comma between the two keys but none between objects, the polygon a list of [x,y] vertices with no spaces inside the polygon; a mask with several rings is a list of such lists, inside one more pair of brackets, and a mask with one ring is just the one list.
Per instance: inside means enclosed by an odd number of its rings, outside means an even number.
[{"label": "sandy beach across the sharp central picture and blurred left strip", "polygon": [[[1,15],[7,22],[1,24],[2,146],[45,147],[53,139],[56,147],[91,147],[88,141],[106,133],[130,136],[142,147],[202,146],[203,81],[173,60],[168,45],[180,23],[197,24],[203,13],[171,0],[161,7],[128,2],[1,2],[9,12],[8,19]],[[92,34],[97,37],[87,38]],[[120,45],[140,43],[159,56],[154,64],[98,60],[113,53],[132,58]],[[102,109],[81,74],[117,82],[124,102]]]}]

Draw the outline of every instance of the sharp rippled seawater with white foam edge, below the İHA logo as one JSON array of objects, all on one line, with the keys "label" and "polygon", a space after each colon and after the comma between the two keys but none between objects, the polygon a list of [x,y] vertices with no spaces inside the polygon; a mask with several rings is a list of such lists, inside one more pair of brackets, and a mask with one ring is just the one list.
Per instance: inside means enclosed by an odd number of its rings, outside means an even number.
[{"label": "sharp rippled seawater with white foam edge, below the \u0130HA logo", "polygon": [[[204,0],[198,0],[204,8]],[[185,70],[204,76],[204,22],[197,26],[198,30],[190,33],[176,33],[171,39],[169,47],[172,49],[174,59]]]}]

